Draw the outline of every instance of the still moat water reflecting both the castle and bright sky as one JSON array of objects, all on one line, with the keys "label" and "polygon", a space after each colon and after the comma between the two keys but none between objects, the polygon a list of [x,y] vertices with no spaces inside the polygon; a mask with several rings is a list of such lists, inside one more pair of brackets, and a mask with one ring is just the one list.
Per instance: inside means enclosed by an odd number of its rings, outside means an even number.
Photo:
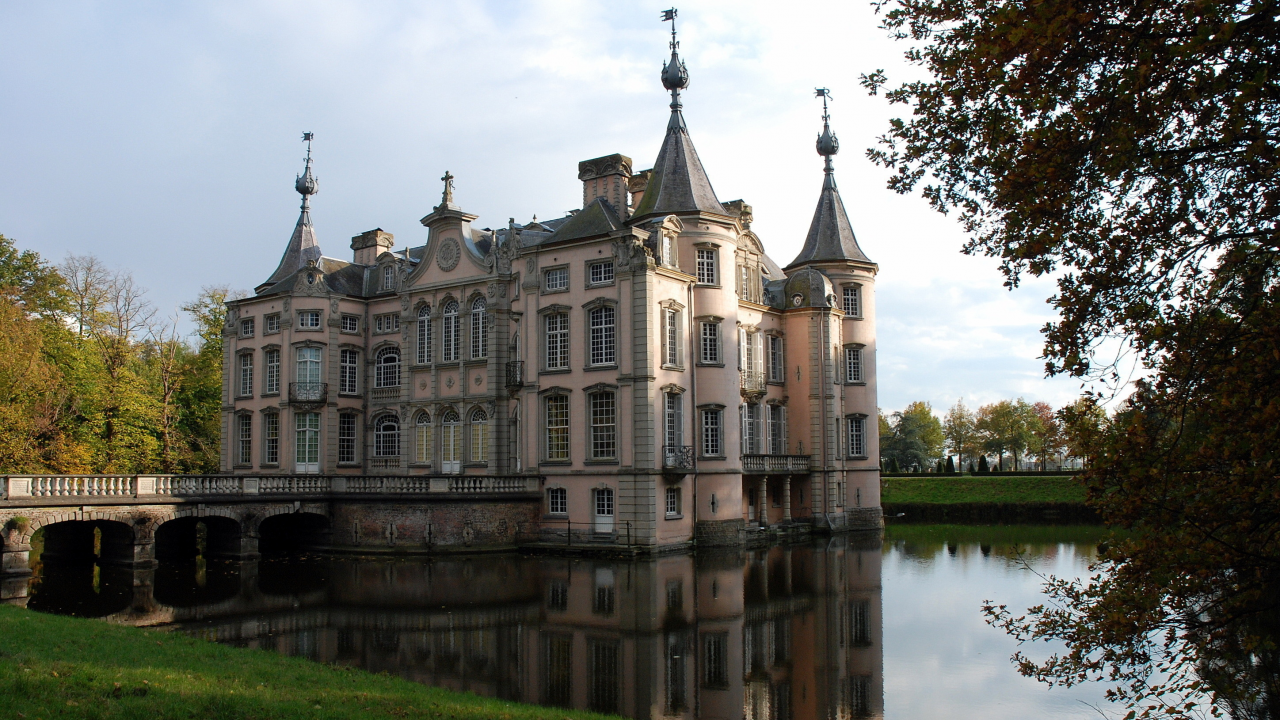
[{"label": "still moat water reflecting both the castle and bright sky", "polygon": [[1103,536],[896,525],[640,561],[50,562],[28,607],[630,717],[1097,717],[1103,688],[1019,676],[979,607],[1041,602],[1037,573],[1083,575]]}]

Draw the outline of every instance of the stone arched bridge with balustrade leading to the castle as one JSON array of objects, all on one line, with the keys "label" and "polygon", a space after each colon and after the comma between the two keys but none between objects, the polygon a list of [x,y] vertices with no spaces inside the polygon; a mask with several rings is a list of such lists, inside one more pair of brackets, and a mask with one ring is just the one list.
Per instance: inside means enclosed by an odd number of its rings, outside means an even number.
[{"label": "stone arched bridge with balustrade leading to the castle", "polygon": [[300,547],[515,547],[536,533],[541,483],[538,475],[9,475],[0,478],[0,578],[13,584],[31,574],[41,529],[45,557],[134,568],[197,552],[248,560]]}]

